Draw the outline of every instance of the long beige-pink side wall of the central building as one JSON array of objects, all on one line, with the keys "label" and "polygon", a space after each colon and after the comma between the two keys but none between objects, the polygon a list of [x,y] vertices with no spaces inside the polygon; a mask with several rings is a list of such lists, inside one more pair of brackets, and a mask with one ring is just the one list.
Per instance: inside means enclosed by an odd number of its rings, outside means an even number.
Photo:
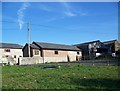
[{"label": "long beige-pink side wall of the central building", "polygon": [[[58,54],[55,54],[58,51]],[[62,51],[62,50],[43,50],[44,62],[67,62],[68,56],[69,61],[76,61],[76,56],[81,57],[82,53],[77,54],[77,51]]]}]

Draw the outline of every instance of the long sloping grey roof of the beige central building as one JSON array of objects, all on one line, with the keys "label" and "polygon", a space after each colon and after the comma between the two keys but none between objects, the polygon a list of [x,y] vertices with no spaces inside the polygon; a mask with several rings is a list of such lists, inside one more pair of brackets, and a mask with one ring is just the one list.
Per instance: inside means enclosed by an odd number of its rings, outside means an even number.
[{"label": "long sloping grey roof of the beige central building", "polygon": [[64,44],[53,44],[53,43],[45,43],[45,42],[33,42],[43,49],[55,49],[55,50],[75,50],[79,51],[80,49],[76,46],[72,45],[64,45]]}]

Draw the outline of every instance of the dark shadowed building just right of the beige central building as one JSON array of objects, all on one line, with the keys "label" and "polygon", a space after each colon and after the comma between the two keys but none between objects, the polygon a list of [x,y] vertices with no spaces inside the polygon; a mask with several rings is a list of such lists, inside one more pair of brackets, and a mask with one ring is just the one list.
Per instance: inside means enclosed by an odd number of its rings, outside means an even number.
[{"label": "dark shadowed building just right of the beige central building", "polygon": [[96,57],[107,54],[108,52],[108,48],[99,40],[76,44],[74,46],[77,46],[82,50],[83,60],[95,59]]}]

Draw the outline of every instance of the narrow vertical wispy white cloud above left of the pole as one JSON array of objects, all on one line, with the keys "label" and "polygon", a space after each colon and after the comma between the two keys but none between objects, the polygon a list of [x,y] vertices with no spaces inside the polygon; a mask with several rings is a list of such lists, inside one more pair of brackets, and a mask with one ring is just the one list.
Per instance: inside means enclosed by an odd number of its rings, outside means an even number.
[{"label": "narrow vertical wispy white cloud above left of the pole", "polygon": [[30,6],[29,3],[25,2],[22,4],[22,6],[20,7],[20,9],[17,11],[17,15],[18,15],[18,23],[20,26],[20,30],[22,30],[22,26],[24,24],[23,21],[23,17],[24,17],[24,11]]}]

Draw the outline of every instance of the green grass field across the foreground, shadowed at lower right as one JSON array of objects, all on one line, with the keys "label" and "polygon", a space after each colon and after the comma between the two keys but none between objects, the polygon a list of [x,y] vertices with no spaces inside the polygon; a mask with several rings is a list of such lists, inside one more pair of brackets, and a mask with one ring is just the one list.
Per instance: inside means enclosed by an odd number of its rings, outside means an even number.
[{"label": "green grass field across the foreground, shadowed at lower right", "polygon": [[117,66],[2,67],[3,89],[120,89]]}]

